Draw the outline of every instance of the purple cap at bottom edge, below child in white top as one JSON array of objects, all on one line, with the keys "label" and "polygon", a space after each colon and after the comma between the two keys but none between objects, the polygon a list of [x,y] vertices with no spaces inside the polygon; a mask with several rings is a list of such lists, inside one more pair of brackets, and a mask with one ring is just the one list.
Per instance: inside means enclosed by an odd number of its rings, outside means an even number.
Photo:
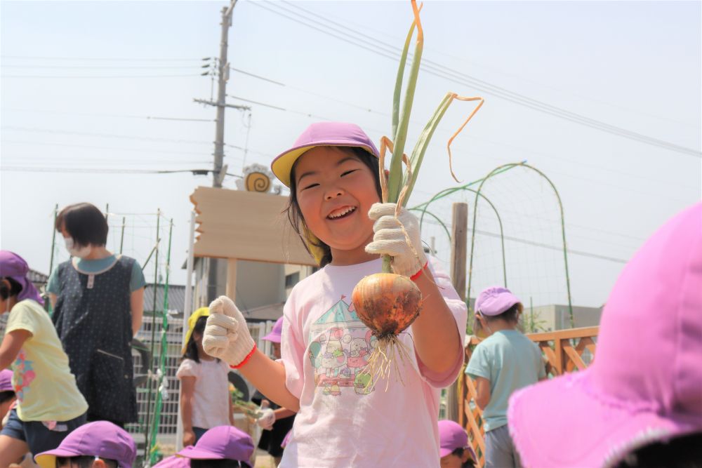
[{"label": "purple cap at bottom edge, below child in white top", "polygon": [[253,453],[251,436],[232,426],[218,426],[202,434],[194,446],[178,455],[196,460],[239,460],[249,462]]}]

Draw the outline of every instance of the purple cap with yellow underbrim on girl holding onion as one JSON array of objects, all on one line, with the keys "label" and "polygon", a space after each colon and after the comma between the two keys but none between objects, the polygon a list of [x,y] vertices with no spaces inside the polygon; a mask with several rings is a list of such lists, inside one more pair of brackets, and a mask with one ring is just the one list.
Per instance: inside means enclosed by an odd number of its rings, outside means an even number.
[{"label": "purple cap with yellow underbrim on girl holding onion", "polygon": [[317,122],[312,123],[295,140],[293,147],[282,152],[270,165],[271,171],[281,182],[290,187],[290,173],[295,161],[307,150],[318,146],[352,146],[365,149],[378,157],[378,149],[371,139],[355,123]]}]

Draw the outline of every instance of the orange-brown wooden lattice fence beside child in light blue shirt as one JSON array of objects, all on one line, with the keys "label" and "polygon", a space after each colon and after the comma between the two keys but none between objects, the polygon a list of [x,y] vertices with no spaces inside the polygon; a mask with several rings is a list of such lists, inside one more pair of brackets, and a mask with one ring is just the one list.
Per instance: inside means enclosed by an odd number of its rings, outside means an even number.
[{"label": "orange-brown wooden lattice fence beside child in light blue shirt", "polygon": [[[529,339],[541,348],[546,363],[546,373],[557,377],[574,370],[588,367],[595,356],[595,338],[600,327],[571,328],[546,333],[530,333]],[[470,359],[475,345],[481,340],[472,337],[465,347],[466,363]],[[464,383],[458,399],[458,422],[468,431],[468,441],[478,457],[479,467],[484,465],[485,434],[482,427],[482,411],[475,404],[477,390],[475,381],[461,373]]]}]

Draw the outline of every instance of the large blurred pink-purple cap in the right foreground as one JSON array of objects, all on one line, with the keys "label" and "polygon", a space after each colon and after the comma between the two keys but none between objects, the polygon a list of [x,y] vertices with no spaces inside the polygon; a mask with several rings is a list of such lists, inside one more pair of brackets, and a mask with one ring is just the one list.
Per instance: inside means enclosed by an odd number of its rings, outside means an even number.
[{"label": "large blurred pink-purple cap in the right foreground", "polygon": [[702,430],[700,356],[697,203],[624,267],[602,313],[595,362],[512,395],[508,424],[524,466],[602,467],[652,441]]}]

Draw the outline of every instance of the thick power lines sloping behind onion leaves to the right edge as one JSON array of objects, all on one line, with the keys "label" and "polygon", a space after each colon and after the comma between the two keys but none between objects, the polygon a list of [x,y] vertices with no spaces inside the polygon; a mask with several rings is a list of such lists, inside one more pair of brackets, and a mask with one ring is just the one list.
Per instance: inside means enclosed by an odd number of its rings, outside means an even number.
[{"label": "thick power lines sloping behind onion leaves to the right edge", "polygon": [[[304,8],[300,8],[299,6],[293,6],[291,5],[290,8],[297,8],[300,10],[303,10],[310,15],[317,16],[319,18],[323,18],[324,22],[320,22],[317,20],[314,20],[312,18],[309,18],[309,15],[302,15],[300,13],[297,13],[296,11],[291,11],[288,8],[283,8],[281,4],[272,4],[270,2],[267,2],[266,4],[263,4],[262,2],[254,2],[253,5],[259,6],[260,8],[263,8],[267,11],[270,11],[271,13],[275,13],[277,15],[280,15],[284,18],[287,18],[289,20],[292,20],[294,22],[298,22],[301,25],[305,25],[307,27],[310,27],[311,29],[315,29],[319,32],[322,32],[323,34],[333,36],[336,39],[339,39],[341,41],[345,41],[349,44],[352,44],[354,46],[364,48],[367,51],[371,51],[372,53],[376,53],[377,55],[381,55],[385,58],[390,58],[390,60],[397,60],[399,57],[399,49],[396,48],[395,46],[391,46],[390,44],[383,43],[382,41],[378,41],[377,38],[373,38],[371,36],[367,36],[365,34],[362,34],[358,32],[357,30],[351,30],[345,27],[345,25],[339,23],[339,22],[334,22],[329,20],[328,18],[321,17],[320,15],[317,15],[316,13],[310,12],[305,10]],[[270,7],[274,7],[275,9],[272,9]],[[284,13],[282,13],[282,11]],[[286,15],[285,13],[297,15],[299,18],[291,18],[291,16]],[[309,24],[308,22],[312,22],[313,24]],[[337,29],[345,29],[345,31],[348,34],[343,34],[343,33],[337,33],[336,29],[331,29],[331,26],[329,26],[329,23],[333,23],[334,25],[337,25]],[[328,28],[331,29],[322,29],[322,28]],[[364,39],[366,38],[366,39]],[[366,44],[363,44],[366,43]],[[423,60],[423,64],[421,65],[422,69],[425,70],[425,72],[428,72],[429,74],[433,74],[435,76],[439,76],[440,78],[447,79],[449,81],[453,81],[454,83],[460,83],[465,86],[472,86],[473,88],[476,88],[478,91],[484,91],[486,93],[490,93],[491,95],[494,95],[498,98],[501,98],[503,100],[508,100],[509,102],[515,103],[517,105],[521,105],[523,107],[528,107],[529,109],[536,110],[538,112],[543,112],[545,114],[550,114],[552,116],[559,117],[561,119],[565,119],[574,123],[580,123],[583,126],[588,126],[590,128],[594,128],[596,130],[604,131],[607,133],[611,133],[614,135],[621,136],[623,138],[628,138],[630,140],[636,140],[639,142],[644,142],[649,145],[654,145],[658,147],[663,147],[665,149],[670,149],[675,152],[680,152],[684,154],[689,154],[691,156],[696,156],[696,157],[702,157],[702,153],[697,151],[696,149],[691,149],[687,147],[682,147],[680,145],[675,145],[670,142],[666,142],[663,140],[657,140],[656,138],[651,138],[647,135],[642,135],[640,133],[635,133],[632,131],[625,130],[624,128],[619,128],[616,126],[612,126],[608,123],[604,123],[602,121],[597,121],[595,119],[590,119],[589,117],[582,116],[580,114],[576,114],[574,112],[570,112],[566,109],[561,109],[559,107],[555,107],[552,105],[549,105],[545,102],[539,101],[539,100],[534,100],[532,98],[529,98],[525,95],[515,93],[513,91],[509,91],[506,88],[501,88],[500,86],[496,86],[492,83],[489,83],[487,81],[483,81],[480,79],[476,79],[472,76],[469,76],[467,74],[462,74],[461,72],[456,72],[456,70],[450,69],[448,67],[444,67],[443,65],[438,64],[437,62],[433,62],[432,60]]]}]

